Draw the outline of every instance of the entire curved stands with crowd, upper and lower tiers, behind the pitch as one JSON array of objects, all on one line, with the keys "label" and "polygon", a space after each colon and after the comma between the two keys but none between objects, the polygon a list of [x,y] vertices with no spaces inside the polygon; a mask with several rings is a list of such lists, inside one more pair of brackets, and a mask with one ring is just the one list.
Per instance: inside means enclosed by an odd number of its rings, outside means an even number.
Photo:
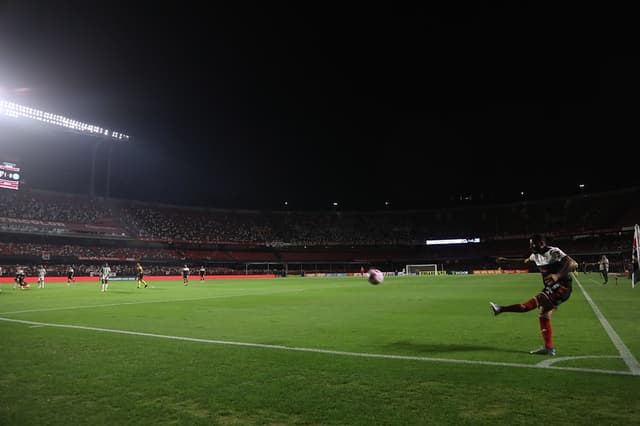
[{"label": "entire curved stands with crowd, upper and lower tiers, behind the pitch", "polygon": [[[491,256],[526,255],[528,235],[542,233],[586,263],[602,253],[612,255],[613,270],[616,263],[624,264],[630,251],[629,232],[621,229],[635,223],[638,192],[630,188],[535,202],[363,213],[233,211],[4,190],[0,262],[20,256],[31,262],[69,261],[78,265],[80,274],[90,274],[94,263],[103,260],[116,262],[116,272],[130,268],[133,261],[168,265],[153,266],[160,274],[183,261],[228,268],[242,262],[429,260],[488,268],[493,266]],[[90,241],[87,230],[93,232]],[[115,236],[122,241],[114,244]],[[427,239],[470,237],[480,237],[483,243],[425,247]]]}]

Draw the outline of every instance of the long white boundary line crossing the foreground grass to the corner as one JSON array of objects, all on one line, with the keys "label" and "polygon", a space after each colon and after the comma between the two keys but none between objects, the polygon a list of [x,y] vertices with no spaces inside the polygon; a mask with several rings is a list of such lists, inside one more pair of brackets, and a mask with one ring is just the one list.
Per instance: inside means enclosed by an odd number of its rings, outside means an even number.
[{"label": "long white boundary line crossing the foreground grass to the corner", "polygon": [[345,352],[345,351],[332,351],[327,349],[300,348],[295,346],[267,345],[262,343],[199,339],[194,337],[181,337],[181,336],[170,336],[170,335],[164,335],[164,334],[141,333],[138,331],[114,330],[114,329],[99,328],[99,327],[85,327],[81,325],[52,324],[52,323],[25,321],[25,320],[18,320],[13,318],[2,318],[2,317],[0,317],[0,321],[27,324],[27,325],[40,325],[40,326],[46,326],[46,327],[68,328],[68,329],[74,329],[74,330],[97,331],[101,333],[114,333],[114,334],[130,335],[130,336],[152,337],[157,339],[179,340],[184,342],[208,343],[208,344],[226,345],[226,346],[243,346],[243,347],[275,349],[275,350],[295,351],[295,352],[311,352],[311,353],[319,353],[319,354],[326,354],[326,355],[350,356],[350,357],[360,357],[360,358],[378,358],[378,359],[382,358],[382,359],[395,359],[395,360],[407,360],[407,361],[441,362],[441,363],[448,363],[448,364],[490,365],[490,366],[497,366],[497,367],[577,371],[577,372],[585,372],[585,373],[599,373],[599,374],[626,375],[626,376],[633,375],[633,373],[629,371],[601,370],[601,369],[574,368],[574,367],[556,367],[552,365],[543,366],[540,364],[518,364],[518,363],[509,363],[509,362],[476,361],[476,360],[453,359],[453,358],[431,358],[431,357],[405,356],[405,355],[385,355],[385,354],[372,354],[372,353],[366,353],[366,352]]}]

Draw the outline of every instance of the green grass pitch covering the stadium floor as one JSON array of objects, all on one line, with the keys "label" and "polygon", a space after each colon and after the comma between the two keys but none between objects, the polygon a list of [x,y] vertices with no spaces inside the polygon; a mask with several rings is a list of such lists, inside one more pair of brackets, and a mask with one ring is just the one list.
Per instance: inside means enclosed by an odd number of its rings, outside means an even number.
[{"label": "green grass pitch covering the stadium floor", "polygon": [[639,424],[640,289],[578,279],[556,357],[489,311],[539,274],[2,285],[0,424]]}]

